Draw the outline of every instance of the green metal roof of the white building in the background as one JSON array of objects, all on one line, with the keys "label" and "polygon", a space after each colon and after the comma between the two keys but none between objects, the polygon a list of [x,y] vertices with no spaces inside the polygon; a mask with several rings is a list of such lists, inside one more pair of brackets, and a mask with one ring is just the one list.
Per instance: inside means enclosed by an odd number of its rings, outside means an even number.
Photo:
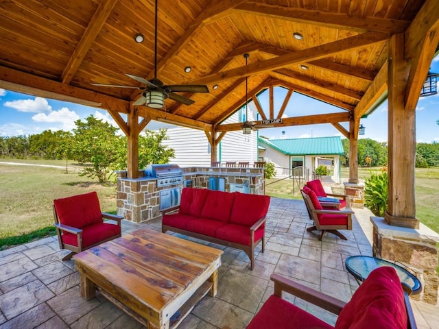
[{"label": "green metal roof of the white building in the background", "polygon": [[258,142],[277,149],[287,156],[344,154],[342,138],[340,136],[270,140],[258,138]]}]

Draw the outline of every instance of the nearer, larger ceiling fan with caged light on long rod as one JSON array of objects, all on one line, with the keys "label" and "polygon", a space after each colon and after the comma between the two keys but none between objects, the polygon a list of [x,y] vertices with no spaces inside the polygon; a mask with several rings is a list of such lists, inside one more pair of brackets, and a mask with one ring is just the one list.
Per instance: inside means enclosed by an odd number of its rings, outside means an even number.
[{"label": "nearer, larger ceiling fan with caged light on long rod", "polygon": [[179,103],[185,105],[191,105],[195,103],[192,99],[180,96],[176,93],[209,93],[209,88],[201,84],[169,84],[164,85],[157,77],[157,9],[158,0],[156,0],[155,8],[155,22],[154,22],[154,77],[151,80],[146,80],[143,77],[136,75],[126,74],[134,80],[137,80],[141,84],[145,84],[144,87],[139,86],[119,86],[115,84],[92,84],[93,86],[106,86],[117,88],[134,88],[143,90],[142,96],[134,102],[134,105],[146,105],[150,108],[163,108],[165,99],[170,98]]}]

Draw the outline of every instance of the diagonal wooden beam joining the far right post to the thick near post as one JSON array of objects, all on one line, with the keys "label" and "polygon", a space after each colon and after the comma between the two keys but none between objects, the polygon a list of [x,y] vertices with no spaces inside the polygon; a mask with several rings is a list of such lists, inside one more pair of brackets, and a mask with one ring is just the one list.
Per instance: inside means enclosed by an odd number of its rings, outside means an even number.
[{"label": "diagonal wooden beam joining the far right post to the thick near post", "polygon": [[387,78],[388,78],[388,62],[385,62],[379,70],[377,76],[370,84],[363,98],[357,104],[354,110],[355,119],[359,120],[370,107],[385,93],[387,90]]}]

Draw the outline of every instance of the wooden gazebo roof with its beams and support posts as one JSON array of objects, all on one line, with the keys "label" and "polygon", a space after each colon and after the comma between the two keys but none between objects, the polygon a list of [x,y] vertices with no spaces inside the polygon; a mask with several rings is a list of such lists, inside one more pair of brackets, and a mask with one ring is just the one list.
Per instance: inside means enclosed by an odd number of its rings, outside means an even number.
[{"label": "wooden gazebo roof with its beams and support posts", "polygon": [[[153,0],[12,0],[0,5],[0,88],[108,110],[128,137],[128,175],[138,175],[138,135],[150,120],[204,130],[216,145],[240,124],[222,124],[274,86],[331,103],[339,112],[290,117],[274,126],[331,123],[350,141],[357,182],[360,118],[388,93],[388,223],[418,227],[414,202],[415,108],[439,40],[435,0],[158,1],[156,72],[165,84],[206,84],[165,108],[134,106],[154,76]],[[143,34],[141,43],[134,41]],[[250,53],[248,65],[244,53]],[[191,66],[189,73],[185,68]],[[217,85],[217,88],[213,86]],[[133,91],[134,90],[134,91]],[[287,101],[286,99],[286,101]],[[126,114],[126,115],[124,115]],[[340,123],[348,122],[348,129]]]}]

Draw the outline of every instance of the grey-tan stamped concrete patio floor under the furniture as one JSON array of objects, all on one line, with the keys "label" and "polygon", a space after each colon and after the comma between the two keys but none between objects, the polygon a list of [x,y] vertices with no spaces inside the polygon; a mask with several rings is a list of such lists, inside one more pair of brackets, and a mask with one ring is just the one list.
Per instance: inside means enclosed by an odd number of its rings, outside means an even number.
[{"label": "grey-tan stamped concrete patio floor under the furniture", "polygon": [[[311,226],[302,200],[272,198],[265,252],[250,271],[244,252],[225,248],[219,269],[218,293],[206,296],[179,328],[245,328],[272,294],[271,273],[280,273],[313,289],[348,301],[358,285],[344,268],[352,255],[372,253],[372,226],[367,210],[355,210],[348,241],[331,234],[322,242],[306,232]],[[123,221],[123,233],[160,221]],[[198,241],[202,242],[202,241]],[[212,245],[212,244],[209,244]],[[56,236],[0,252],[0,328],[143,328],[102,295],[86,302],[80,295],[74,260],[62,262]],[[291,295],[291,302],[334,324],[336,317]],[[418,328],[439,328],[439,307],[412,301]]]}]

